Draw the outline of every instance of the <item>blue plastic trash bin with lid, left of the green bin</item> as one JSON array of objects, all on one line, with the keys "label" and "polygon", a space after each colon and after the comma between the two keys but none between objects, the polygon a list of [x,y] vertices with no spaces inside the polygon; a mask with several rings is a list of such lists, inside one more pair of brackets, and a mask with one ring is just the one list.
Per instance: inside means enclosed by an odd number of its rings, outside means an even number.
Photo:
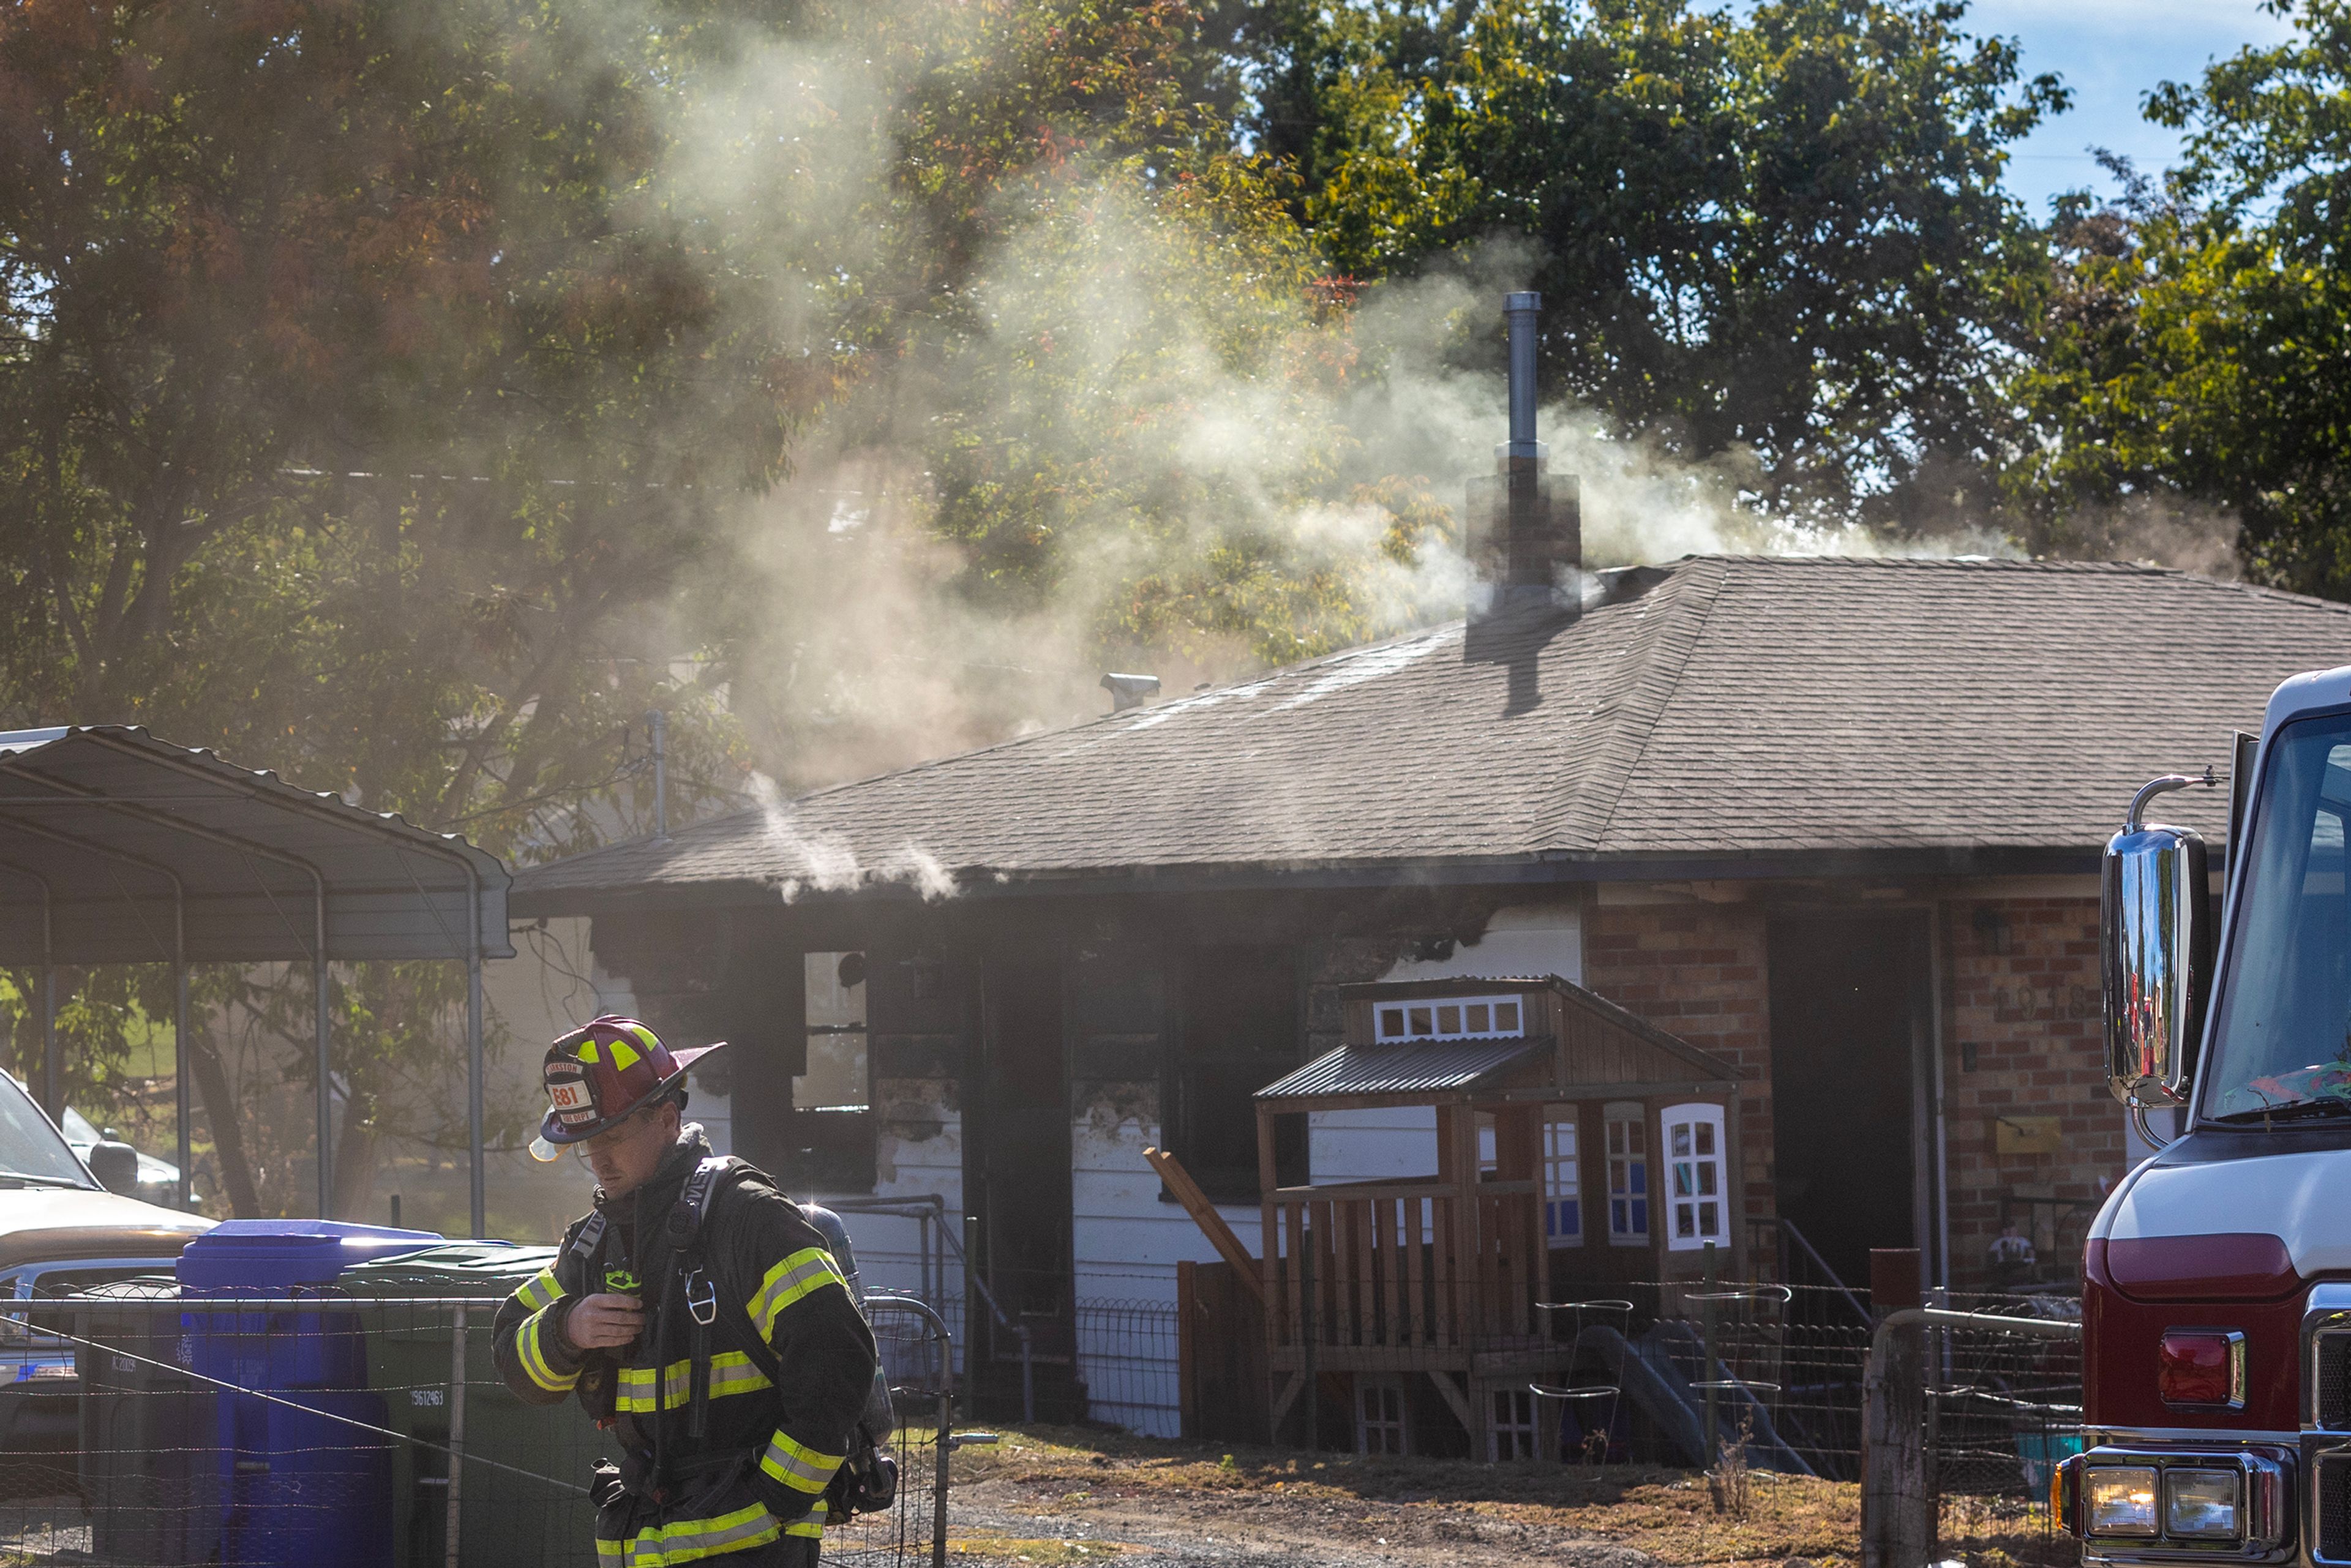
[{"label": "blue plastic trash bin with lid, left of the green bin", "polygon": [[[440,1244],[433,1232],[381,1225],[228,1220],[188,1244],[176,1274],[183,1298],[292,1298],[334,1286],[355,1262]],[[183,1324],[197,1373],[287,1401],[219,1399],[221,1561],[388,1568],[390,1439],[348,1425],[388,1425],[383,1396],[367,1392],[357,1316],[188,1312]]]}]

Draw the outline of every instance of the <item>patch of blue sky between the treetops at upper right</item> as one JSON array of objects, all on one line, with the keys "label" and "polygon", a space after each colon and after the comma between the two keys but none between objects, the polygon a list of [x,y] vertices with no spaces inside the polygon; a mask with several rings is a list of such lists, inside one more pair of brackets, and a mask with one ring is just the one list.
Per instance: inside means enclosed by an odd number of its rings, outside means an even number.
[{"label": "patch of blue sky between the treetops at upper right", "polygon": [[2017,143],[2008,165],[2008,183],[2034,216],[2076,186],[2111,195],[2092,146],[2146,172],[2170,162],[2179,139],[2139,118],[2149,87],[2196,80],[2215,56],[2292,33],[2255,0],[1977,0],[1968,21],[1975,33],[2015,38],[2027,75],[2055,71],[2074,89],[2074,108]]}]

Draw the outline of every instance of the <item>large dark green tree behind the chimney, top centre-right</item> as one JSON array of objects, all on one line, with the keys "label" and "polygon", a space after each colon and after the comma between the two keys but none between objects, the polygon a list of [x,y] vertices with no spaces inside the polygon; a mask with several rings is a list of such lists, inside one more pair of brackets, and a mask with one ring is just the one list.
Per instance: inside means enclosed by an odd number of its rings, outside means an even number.
[{"label": "large dark green tree behind the chimney, top centre-right", "polygon": [[1768,512],[1925,527],[2003,430],[1980,388],[2041,268],[2003,148],[2067,103],[1963,12],[1324,7],[1265,136],[1357,277],[1531,242],[1545,386],[1610,433],[1751,451]]}]

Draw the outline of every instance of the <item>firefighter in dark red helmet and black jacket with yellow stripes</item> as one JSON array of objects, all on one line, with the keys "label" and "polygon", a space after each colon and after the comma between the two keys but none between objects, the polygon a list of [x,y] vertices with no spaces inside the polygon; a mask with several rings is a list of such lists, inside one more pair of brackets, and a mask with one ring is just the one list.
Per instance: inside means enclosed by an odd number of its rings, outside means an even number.
[{"label": "firefighter in dark red helmet and black jacket with yellow stripes", "polygon": [[872,1331],[823,1237],[684,1121],[686,1067],[717,1048],[604,1016],[541,1067],[531,1152],[569,1147],[597,1194],[498,1307],[498,1375],[529,1403],[576,1394],[621,1448],[590,1488],[600,1568],[816,1563],[875,1387]]}]

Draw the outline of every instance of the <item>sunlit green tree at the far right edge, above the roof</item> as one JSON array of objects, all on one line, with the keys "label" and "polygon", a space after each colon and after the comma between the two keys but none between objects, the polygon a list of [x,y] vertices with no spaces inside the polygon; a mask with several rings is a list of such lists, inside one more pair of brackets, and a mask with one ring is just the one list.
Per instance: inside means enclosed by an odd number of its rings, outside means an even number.
[{"label": "sunlit green tree at the far right edge, above the roof", "polygon": [[2041,440],[2010,487],[2059,543],[2104,508],[2219,508],[2257,581],[2351,597],[2351,7],[2290,14],[2292,40],[2151,94],[2189,132],[2179,169],[2059,216],[2038,353],[2012,378]]}]

